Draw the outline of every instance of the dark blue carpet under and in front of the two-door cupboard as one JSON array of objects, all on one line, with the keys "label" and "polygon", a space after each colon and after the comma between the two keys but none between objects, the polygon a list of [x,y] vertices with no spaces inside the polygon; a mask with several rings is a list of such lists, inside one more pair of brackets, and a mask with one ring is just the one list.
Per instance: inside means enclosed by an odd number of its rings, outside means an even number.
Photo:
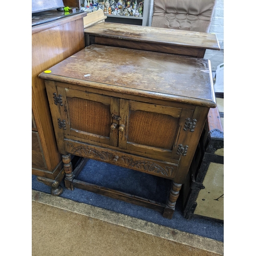
[{"label": "dark blue carpet under and in front of the two-door cupboard", "polygon": [[[89,160],[76,179],[161,203],[165,203],[170,184],[169,180],[157,176],[95,160]],[[187,220],[182,216],[181,197],[177,201],[173,218],[169,220],[163,218],[160,212],[149,208],[126,203],[79,188],[71,191],[65,188],[63,182],[61,182],[61,186],[63,192],[60,197],[62,198],[112,210],[123,215],[224,242],[224,225],[222,223],[197,218]],[[51,188],[44,183],[38,182],[34,175],[32,175],[32,189],[51,194]]]}]

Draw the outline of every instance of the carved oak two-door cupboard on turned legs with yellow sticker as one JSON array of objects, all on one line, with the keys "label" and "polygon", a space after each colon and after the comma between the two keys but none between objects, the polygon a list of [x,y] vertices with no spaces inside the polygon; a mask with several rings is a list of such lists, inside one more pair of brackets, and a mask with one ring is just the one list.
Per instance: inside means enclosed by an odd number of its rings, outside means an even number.
[{"label": "carved oak two-door cupboard on turned legs with yellow sticker", "polygon": [[[66,187],[172,218],[209,109],[216,108],[209,61],[90,45],[39,77],[45,79]],[[77,180],[71,155],[169,179],[166,204]]]}]

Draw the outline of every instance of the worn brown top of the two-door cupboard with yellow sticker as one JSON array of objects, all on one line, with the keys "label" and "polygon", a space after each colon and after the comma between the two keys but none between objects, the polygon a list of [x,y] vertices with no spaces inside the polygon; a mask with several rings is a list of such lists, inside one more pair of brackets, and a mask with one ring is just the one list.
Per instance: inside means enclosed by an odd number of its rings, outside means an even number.
[{"label": "worn brown top of the two-door cupboard with yellow sticker", "polygon": [[90,45],[40,78],[215,108],[208,59]]}]

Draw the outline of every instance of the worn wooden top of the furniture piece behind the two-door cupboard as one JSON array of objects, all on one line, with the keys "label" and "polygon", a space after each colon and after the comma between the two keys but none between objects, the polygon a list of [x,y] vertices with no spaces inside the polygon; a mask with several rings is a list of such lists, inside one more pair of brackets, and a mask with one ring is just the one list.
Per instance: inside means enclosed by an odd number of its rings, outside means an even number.
[{"label": "worn wooden top of the furniture piece behind the two-door cupboard", "polygon": [[196,31],[103,22],[84,29],[84,32],[90,35],[163,45],[220,50],[219,41],[215,34]]}]

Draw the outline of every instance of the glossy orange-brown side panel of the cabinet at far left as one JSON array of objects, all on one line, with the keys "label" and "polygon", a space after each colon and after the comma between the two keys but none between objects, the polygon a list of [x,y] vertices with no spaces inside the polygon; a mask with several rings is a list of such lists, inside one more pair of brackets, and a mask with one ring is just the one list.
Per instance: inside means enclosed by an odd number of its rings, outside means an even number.
[{"label": "glossy orange-brown side panel of the cabinet at far left", "polygon": [[53,172],[61,157],[56,146],[45,83],[38,75],[84,48],[83,19],[67,21],[46,30],[44,27],[41,26],[36,33],[32,30],[32,109],[47,169]]}]

